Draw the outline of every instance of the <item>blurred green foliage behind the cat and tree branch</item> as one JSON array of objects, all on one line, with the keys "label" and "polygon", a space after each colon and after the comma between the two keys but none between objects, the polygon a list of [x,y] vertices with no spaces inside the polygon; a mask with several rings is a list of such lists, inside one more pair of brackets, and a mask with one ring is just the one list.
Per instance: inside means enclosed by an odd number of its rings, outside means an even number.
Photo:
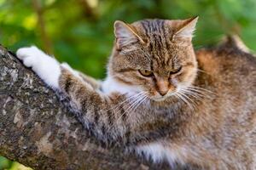
[{"label": "blurred green foliage behind the cat and tree branch", "polygon": [[[195,15],[200,16],[195,49],[236,33],[256,50],[255,0],[0,0],[0,43],[12,51],[35,44],[73,68],[103,78],[114,20]],[[27,168],[0,157],[2,169]]]}]

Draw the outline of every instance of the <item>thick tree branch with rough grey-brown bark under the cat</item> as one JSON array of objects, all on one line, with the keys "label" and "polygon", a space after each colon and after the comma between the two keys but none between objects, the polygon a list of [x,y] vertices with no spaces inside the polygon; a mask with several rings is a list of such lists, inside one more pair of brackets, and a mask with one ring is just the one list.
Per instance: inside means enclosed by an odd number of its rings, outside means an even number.
[{"label": "thick tree branch with rough grey-brown bark under the cat", "polygon": [[33,169],[160,169],[97,144],[65,99],[0,46],[0,155]]}]

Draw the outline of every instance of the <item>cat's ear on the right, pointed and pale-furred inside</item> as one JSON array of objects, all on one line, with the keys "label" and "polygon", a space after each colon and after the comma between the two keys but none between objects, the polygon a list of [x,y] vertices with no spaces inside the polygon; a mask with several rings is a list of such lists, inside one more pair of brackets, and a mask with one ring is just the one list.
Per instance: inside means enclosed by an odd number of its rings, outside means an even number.
[{"label": "cat's ear on the right, pointed and pale-furred inside", "polygon": [[191,40],[195,31],[197,20],[198,16],[180,21],[176,30],[174,31],[172,38],[185,37]]}]

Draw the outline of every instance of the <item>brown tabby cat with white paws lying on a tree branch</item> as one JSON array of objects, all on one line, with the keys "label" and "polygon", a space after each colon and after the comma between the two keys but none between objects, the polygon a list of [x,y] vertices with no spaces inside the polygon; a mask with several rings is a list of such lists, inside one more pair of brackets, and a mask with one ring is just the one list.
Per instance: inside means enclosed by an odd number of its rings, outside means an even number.
[{"label": "brown tabby cat with white paws lying on a tree branch", "polygon": [[17,56],[103,144],[171,167],[256,169],[256,59],[235,37],[195,52],[197,20],[115,21],[102,82],[36,47]]}]

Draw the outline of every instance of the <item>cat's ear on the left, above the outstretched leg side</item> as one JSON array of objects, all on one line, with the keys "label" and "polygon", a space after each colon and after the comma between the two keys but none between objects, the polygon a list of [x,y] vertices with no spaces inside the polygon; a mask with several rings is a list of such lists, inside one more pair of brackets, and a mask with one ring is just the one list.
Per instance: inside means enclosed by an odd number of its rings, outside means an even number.
[{"label": "cat's ear on the left, above the outstretched leg side", "polygon": [[123,48],[133,42],[143,42],[143,39],[137,35],[136,30],[129,24],[116,20],[113,26],[118,49]]}]

